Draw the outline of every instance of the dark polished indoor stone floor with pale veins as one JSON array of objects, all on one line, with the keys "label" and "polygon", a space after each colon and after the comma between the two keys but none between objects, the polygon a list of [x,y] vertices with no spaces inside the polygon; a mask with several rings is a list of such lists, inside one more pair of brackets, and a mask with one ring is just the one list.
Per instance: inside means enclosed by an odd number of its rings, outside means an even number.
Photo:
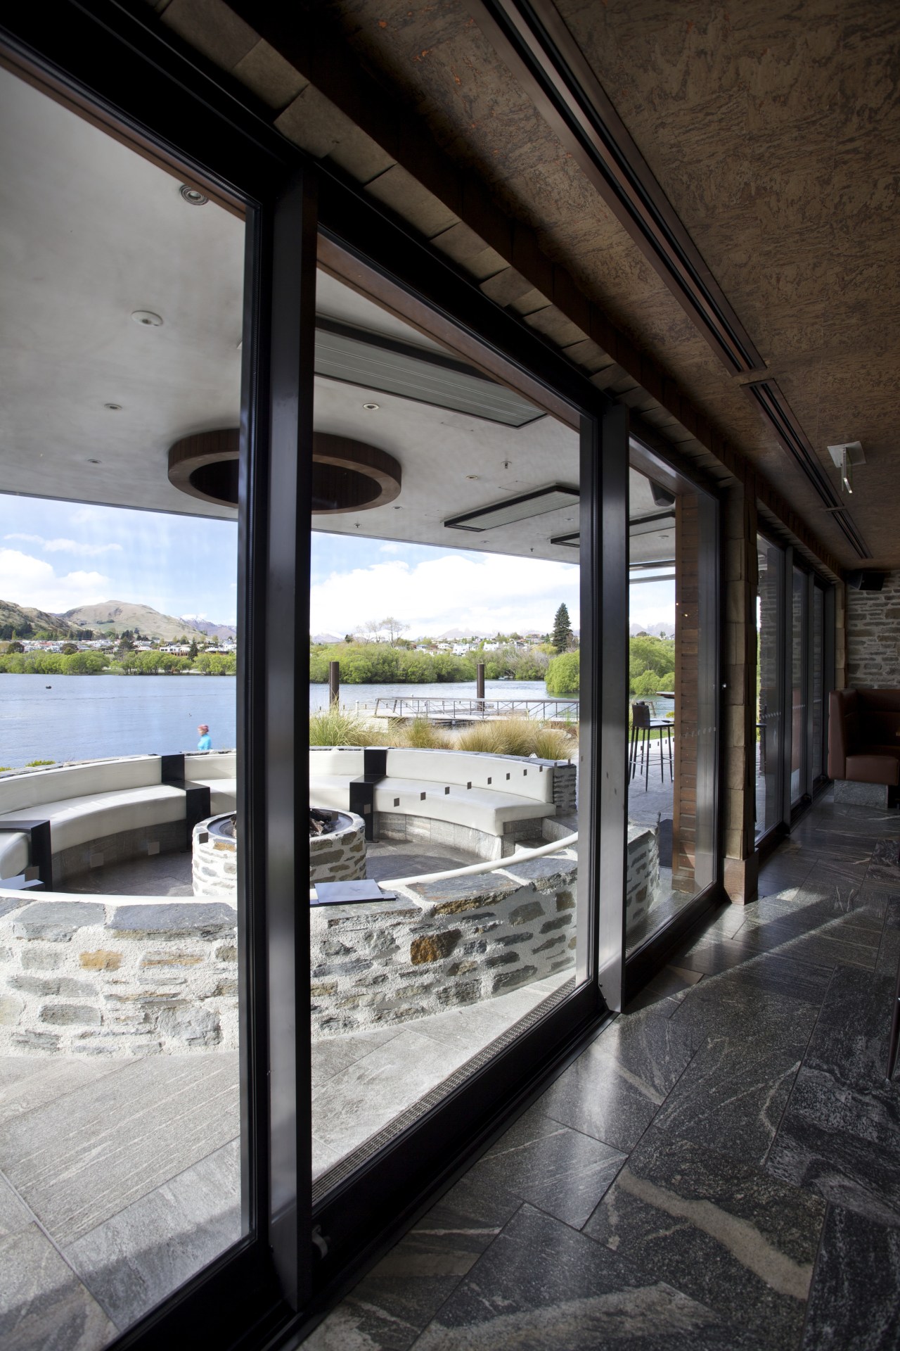
[{"label": "dark polished indoor stone floor with pale veins", "polygon": [[819,804],[305,1343],[900,1347],[900,817]]}]

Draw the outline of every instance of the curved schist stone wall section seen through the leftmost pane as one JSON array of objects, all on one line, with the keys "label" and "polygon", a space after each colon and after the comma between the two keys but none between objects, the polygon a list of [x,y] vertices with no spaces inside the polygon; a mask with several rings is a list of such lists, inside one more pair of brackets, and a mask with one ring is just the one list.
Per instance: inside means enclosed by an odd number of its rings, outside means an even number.
[{"label": "curved schist stone wall section seen through the leftmost pane", "polygon": [[45,894],[0,896],[0,1054],[237,1046],[233,905]]}]

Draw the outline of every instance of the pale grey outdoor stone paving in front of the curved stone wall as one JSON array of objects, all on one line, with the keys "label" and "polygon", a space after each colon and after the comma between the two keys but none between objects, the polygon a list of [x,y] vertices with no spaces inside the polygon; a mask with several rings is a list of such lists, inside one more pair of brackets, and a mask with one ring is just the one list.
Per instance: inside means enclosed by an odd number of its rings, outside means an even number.
[{"label": "pale grey outdoor stone paving in front of the curved stone wall", "polygon": [[[475,1009],[313,1043],[316,1177],[564,979],[561,973]],[[0,1056],[4,1351],[100,1351],[235,1243],[239,1131],[233,1052]],[[599,1169],[619,1158],[586,1143]]]}]

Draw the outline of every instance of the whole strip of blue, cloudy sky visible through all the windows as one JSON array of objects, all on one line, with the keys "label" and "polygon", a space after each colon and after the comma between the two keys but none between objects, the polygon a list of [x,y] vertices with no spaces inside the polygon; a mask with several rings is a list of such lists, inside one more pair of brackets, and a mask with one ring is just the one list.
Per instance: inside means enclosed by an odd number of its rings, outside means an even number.
[{"label": "whole strip of blue, cloudy sky visible through all the windows", "polygon": [[[61,613],[136,601],[233,624],[237,527],[201,516],[0,493],[0,598]],[[395,615],[410,636],[546,632],[560,603],[579,627],[573,563],[313,532],[312,632]],[[631,619],[673,623],[671,584],[631,588]]]}]

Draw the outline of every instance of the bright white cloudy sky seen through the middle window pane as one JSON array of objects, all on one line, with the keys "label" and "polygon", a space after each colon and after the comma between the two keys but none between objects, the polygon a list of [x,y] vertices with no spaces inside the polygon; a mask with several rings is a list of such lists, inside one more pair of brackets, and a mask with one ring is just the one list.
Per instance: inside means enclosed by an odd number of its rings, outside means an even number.
[{"label": "bright white cloudy sky seen through the middle window pane", "polygon": [[578,628],[579,570],[571,563],[443,554],[414,567],[395,561],[332,573],[310,589],[310,627],[352,632],[395,615],[410,636],[447,628],[546,632],[561,601]]}]

